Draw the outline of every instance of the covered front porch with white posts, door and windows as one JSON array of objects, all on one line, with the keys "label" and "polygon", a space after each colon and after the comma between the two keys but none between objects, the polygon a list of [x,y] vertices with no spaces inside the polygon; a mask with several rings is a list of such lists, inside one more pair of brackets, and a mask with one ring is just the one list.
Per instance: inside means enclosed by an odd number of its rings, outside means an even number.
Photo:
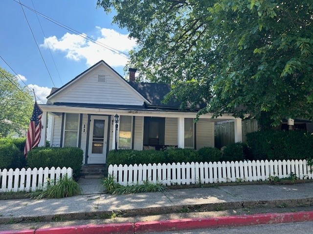
[{"label": "covered front porch with white posts, door and windows", "polygon": [[[214,147],[214,122],[234,121],[235,142],[242,141],[242,119],[231,114],[212,118],[195,112],[129,110],[42,105],[42,137],[52,147],[74,146],[84,151],[83,164],[104,164],[110,150],[160,150],[165,147]],[[114,116],[119,121],[114,122]],[[117,128],[116,128],[117,127]]]}]

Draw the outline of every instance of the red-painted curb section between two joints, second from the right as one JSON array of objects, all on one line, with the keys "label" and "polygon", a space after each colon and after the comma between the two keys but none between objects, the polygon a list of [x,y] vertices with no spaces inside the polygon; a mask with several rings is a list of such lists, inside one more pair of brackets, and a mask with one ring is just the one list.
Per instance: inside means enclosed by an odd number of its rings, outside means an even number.
[{"label": "red-painted curb section between two joints, second from the right", "polygon": [[151,222],[137,222],[134,226],[134,233],[178,231],[199,228],[218,228],[217,219],[184,218]]}]

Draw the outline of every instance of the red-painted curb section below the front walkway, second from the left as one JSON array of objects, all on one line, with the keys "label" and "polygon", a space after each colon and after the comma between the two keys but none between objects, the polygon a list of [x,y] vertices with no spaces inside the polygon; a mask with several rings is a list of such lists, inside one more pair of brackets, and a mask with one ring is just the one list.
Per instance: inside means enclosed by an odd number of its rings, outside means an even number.
[{"label": "red-painted curb section below the front walkway, second from the left", "polygon": [[134,234],[134,223],[111,223],[37,229],[35,234]]}]

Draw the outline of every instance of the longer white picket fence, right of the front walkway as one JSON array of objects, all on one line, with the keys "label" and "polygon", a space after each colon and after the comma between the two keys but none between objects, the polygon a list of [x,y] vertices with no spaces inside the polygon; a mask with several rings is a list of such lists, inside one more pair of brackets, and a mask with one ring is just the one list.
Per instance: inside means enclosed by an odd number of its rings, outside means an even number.
[{"label": "longer white picket fence, right of the front walkway", "polygon": [[144,181],[163,185],[197,183],[228,183],[265,181],[270,176],[285,178],[296,175],[299,179],[312,179],[311,167],[306,160],[257,160],[204,163],[168,163],[139,165],[110,165],[109,175],[121,185],[143,184]]}]

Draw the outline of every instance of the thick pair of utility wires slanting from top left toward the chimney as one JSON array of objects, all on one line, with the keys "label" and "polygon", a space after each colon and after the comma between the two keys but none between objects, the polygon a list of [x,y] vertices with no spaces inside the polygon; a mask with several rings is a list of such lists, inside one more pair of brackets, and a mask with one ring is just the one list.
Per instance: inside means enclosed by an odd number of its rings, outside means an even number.
[{"label": "thick pair of utility wires slanting from top left toward the chimney", "polygon": [[118,55],[120,55],[120,56],[122,56],[122,57],[124,57],[124,58],[126,58],[126,59],[129,59],[129,55],[128,55],[128,54],[126,54],[126,53],[124,53],[124,52],[122,52],[122,51],[119,51],[119,50],[117,50],[117,49],[114,49],[113,47],[111,47],[111,46],[109,46],[109,45],[106,45],[106,44],[104,44],[104,43],[102,43],[102,42],[99,42],[99,41],[97,41],[97,40],[95,40],[95,39],[93,39],[93,38],[90,38],[88,35],[85,35],[85,34],[83,34],[83,33],[80,33],[80,32],[78,32],[78,31],[76,31],[75,29],[72,29],[72,28],[70,28],[70,27],[68,27],[68,26],[66,26],[66,25],[64,25],[64,24],[62,24],[62,23],[60,23],[60,22],[58,22],[57,20],[53,20],[53,19],[51,19],[51,18],[45,16],[44,14],[42,14],[42,13],[40,13],[40,12],[38,12],[38,11],[32,9],[31,7],[29,7],[29,6],[27,6],[27,5],[24,5],[24,4],[22,4],[21,2],[18,2],[17,0],[13,0],[13,1],[15,1],[15,2],[21,4],[21,6],[24,6],[25,8],[27,8],[27,9],[31,10],[32,12],[34,12],[34,13],[40,15],[41,17],[45,18],[46,20],[49,20],[49,21],[51,21],[52,23],[55,23],[55,24],[59,25],[60,27],[65,28],[66,30],[68,30],[68,31],[70,31],[70,32],[72,32],[72,33],[74,33],[74,34],[76,34],[76,35],[78,35],[78,36],[80,36],[80,37],[82,37],[82,38],[84,38],[84,39],[87,39],[87,40],[89,40],[89,41],[91,41],[91,42],[93,42],[93,43],[96,43],[97,45],[100,45],[100,46],[102,46],[102,47],[104,47],[104,48],[106,48],[106,49],[112,51],[112,52],[115,53],[115,54],[118,54]]}]

